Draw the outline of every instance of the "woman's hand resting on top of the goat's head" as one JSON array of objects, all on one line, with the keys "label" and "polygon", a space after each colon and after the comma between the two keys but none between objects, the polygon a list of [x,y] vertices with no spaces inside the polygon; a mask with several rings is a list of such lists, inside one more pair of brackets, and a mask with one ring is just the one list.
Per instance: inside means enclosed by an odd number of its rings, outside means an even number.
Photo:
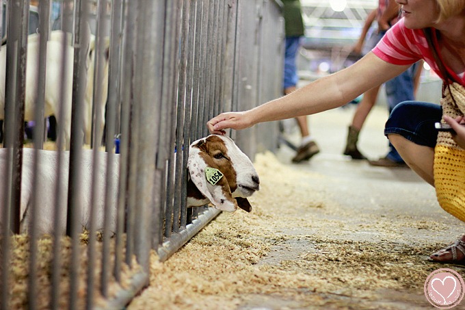
[{"label": "woman's hand resting on top of the goat's head", "polygon": [[226,134],[224,129],[239,130],[252,127],[252,125],[254,124],[249,120],[247,111],[222,113],[207,122],[210,133],[216,135]]}]

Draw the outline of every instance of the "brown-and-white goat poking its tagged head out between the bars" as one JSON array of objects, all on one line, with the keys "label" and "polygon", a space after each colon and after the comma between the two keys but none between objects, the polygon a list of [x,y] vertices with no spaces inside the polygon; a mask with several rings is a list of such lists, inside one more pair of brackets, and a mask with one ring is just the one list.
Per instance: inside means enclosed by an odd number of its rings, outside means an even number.
[{"label": "brown-and-white goat poking its tagged head out between the bars", "polygon": [[[6,158],[9,150],[0,148],[0,180],[5,180]],[[31,206],[33,191],[38,193],[38,232],[40,234],[53,232],[53,221],[55,216],[55,188],[57,151],[39,152],[39,172],[37,188],[32,188],[34,177],[34,150],[23,148],[23,174],[21,179],[21,232],[26,233],[31,224],[29,207]],[[81,208],[81,225],[88,228],[90,224],[90,199],[92,193],[92,150],[83,150],[81,164],[81,190],[79,192],[79,207]],[[64,151],[62,166],[62,196],[65,197],[60,207],[59,230],[64,233],[66,229],[66,197],[68,196],[68,168],[69,152]],[[107,173],[107,153],[99,156],[97,184],[94,190],[98,191],[96,197],[96,229],[103,229],[105,188]],[[111,188],[109,205],[111,214],[107,214],[111,222],[111,231],[116,228],[116,206],[118,198],[118,180],[120,171],[120,156],[114,155],[116,159],[114,175],[115,180]],[[235,211],[237,207],[250,211],[250,203],[245,197],[251,196],[259,190],[259,179],[250,159],[233,142],[232,139],[221,135],[209,135],[193,142],[189,150],[188,159],[189,181],[187,183],[187,207],[195,207],[208,203],[209,201],[223,211]],[[0,212],[4,207],[4,191],[0,189]],[[3,214],[3,213],[0,213]],[[0,216],[0,227],[3,218]]]}]

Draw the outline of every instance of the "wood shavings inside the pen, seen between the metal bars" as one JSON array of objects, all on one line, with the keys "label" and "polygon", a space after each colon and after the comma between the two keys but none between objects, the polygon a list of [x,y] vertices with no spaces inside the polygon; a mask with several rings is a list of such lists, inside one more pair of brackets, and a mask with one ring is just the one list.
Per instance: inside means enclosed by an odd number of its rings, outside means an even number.
[{"label": "wood shavings inside the pen, seen between the metal bars", "polygon": [[[88,277],[88,233],[81,234],[79,244],[79,270],[78,274],[78,292],[77,292],[77,309],[85,309],[86,298],[86,279]],[[10,309],[27,309],[27,292],[29,276],[29,236],[14,235],[10,238]],[[1,242],[1,237],[0,237]],[[100,276],[102,270],[102,243],[96,242],[96,252],[94,260],[93,274],[95,276],[94,302],[96,306],[105,307],[106,299],[100,294]],[[51,281],[52,281],[52,261],[53,261],[53,239],[44,236],[38,240],[37,252],[37,287],[38,296],[34,300],[36,309],[50,309],[51,303]],[[114,240],[111,240],[109,252],[110,272],[114,266]],[[70,266],[71,266],[72,245],[69,237],[62,237],[60,248],[61,279],[59,281],[59,309],[68,309],[70,296]],[[1,252],[0,252],[1,255]],[[122,263],[121,281],[118,283],[113,276],[110,276],[108,285],[108,296],[114,298],[116,294],[131,285],[131,279],[134,274],[141,272],[140,266],[135,259],[132,261],[133,268]],[[0,266],[0,275],[1,275]]]}]

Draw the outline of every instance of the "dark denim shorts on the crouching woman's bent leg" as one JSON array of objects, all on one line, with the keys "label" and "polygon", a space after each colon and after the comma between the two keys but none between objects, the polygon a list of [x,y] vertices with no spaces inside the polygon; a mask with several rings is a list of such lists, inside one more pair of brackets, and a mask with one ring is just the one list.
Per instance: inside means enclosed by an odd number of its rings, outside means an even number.
[{"label": "dark denim shorts on the crouching woman's bent leg", "polygon": [[384,135],[397,133],[415,144],[436,146],[438,131],[434,123],[439,122],[442,108],[436,103],[406,101],[399,103],[390,113],[384,127]]}]

